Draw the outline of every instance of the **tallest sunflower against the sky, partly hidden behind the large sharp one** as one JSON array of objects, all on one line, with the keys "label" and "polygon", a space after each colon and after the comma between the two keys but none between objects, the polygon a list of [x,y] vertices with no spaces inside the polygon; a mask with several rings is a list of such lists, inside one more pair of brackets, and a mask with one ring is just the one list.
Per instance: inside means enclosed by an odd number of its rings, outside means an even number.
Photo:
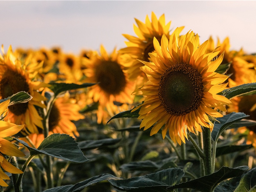
[{"label": "tallest sunflower against the sky, partly hidden behind the large sharp one", "polygon": [[[142,84],[148,80],[146,74],[140,70],[144,66],[139,60],[148,61],[148,53],[154,52],[153,39],[154,37],[160,43],[163,34],[169,38],[169,28],[171,21],[165,24],[164,14],[157,19],[154,12],[151,13],[151,20],[146,16],[145,23],[135,19],[138,27],[133,26],[134,32],[138,37],[123,34],[129,42],[125,42],[126,48],[119,50],[123,54],[122,64],[128,68],[127,73],[132,81],[137,81],[137,84]],[[181,28],[180,28],[181,29]]]}]

